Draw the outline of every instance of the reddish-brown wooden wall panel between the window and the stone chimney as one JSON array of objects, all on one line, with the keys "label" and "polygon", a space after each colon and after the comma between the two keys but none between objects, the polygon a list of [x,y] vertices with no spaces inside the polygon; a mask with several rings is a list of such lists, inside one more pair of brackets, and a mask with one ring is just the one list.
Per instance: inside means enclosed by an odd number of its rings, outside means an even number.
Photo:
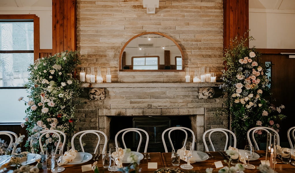
[{"label": "reddish-brown wooden wall panel between the window and the stone chimney", "polygon": [[76,0],[52,1],[52,54],[76,50]]}]

